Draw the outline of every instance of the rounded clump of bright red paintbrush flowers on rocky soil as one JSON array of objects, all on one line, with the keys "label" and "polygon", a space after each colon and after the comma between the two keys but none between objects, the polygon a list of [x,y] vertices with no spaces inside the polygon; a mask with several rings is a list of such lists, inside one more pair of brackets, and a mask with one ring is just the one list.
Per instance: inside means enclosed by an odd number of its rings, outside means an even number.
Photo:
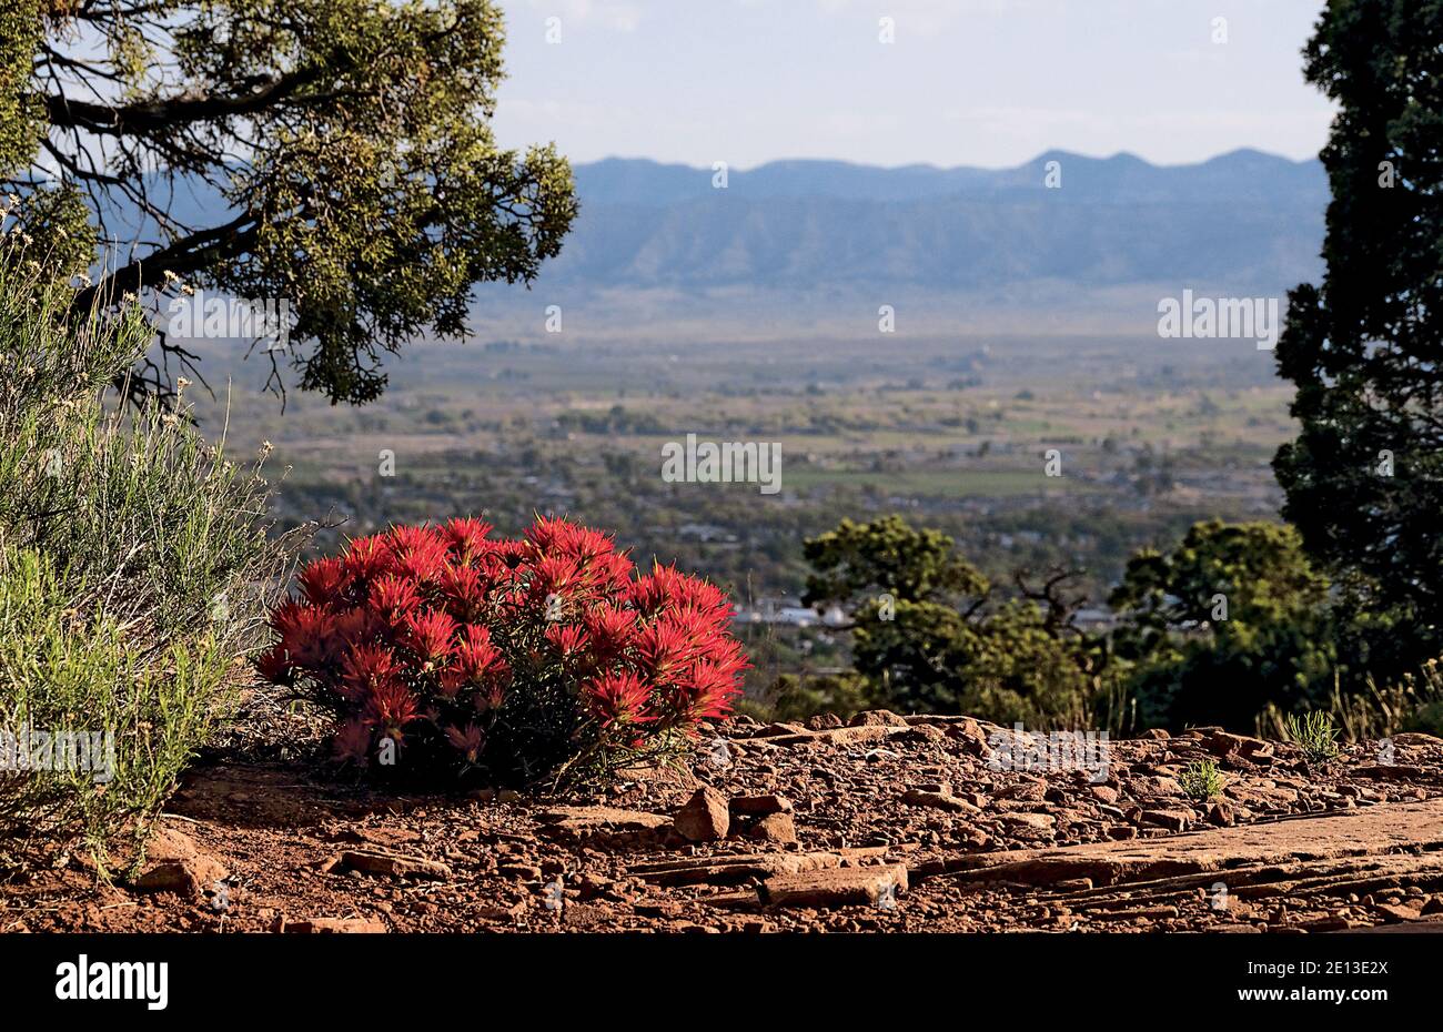
[{"label": "rounded clump of bright red paintbrush flowers on rocky soil", "polygon": [[675,753],[730,712],[746,668],[732,605],[612,538],[538,518],[395,527],[310,563],[257,661],[338,717],[342,759],[534,778],[582,755]]}]

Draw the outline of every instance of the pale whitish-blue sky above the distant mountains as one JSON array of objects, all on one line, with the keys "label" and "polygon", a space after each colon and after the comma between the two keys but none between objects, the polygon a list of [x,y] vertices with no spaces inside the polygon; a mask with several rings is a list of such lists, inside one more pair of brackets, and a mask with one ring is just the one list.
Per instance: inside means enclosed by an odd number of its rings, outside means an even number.
[{"label": "pale whitish-blue sky above the distant mountains", "polygon": [[1302,159],[1332,117],[1302,76],[1322,6],[501,0],[509,78],[494,127],[505,147],[556,141],[577,163],[1009,167],[1061,149],[1183,165],[1238,147]]}]

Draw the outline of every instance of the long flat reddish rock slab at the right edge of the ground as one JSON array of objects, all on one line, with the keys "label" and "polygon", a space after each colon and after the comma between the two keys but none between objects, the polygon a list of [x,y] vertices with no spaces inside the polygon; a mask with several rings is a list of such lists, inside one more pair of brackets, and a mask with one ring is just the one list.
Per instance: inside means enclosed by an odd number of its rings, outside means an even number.
[{"label": "long flat reddish rock slab at the right edge of the ground", "polygon": [[915,875],[951,873],[968,882],[1094,885],[1146,882],[1248,866],[1316,863],[1443,849],[1443,800],[1394,803],[1330,817],[1306,817],[1193,834],[965,854],[922,865]]}]

